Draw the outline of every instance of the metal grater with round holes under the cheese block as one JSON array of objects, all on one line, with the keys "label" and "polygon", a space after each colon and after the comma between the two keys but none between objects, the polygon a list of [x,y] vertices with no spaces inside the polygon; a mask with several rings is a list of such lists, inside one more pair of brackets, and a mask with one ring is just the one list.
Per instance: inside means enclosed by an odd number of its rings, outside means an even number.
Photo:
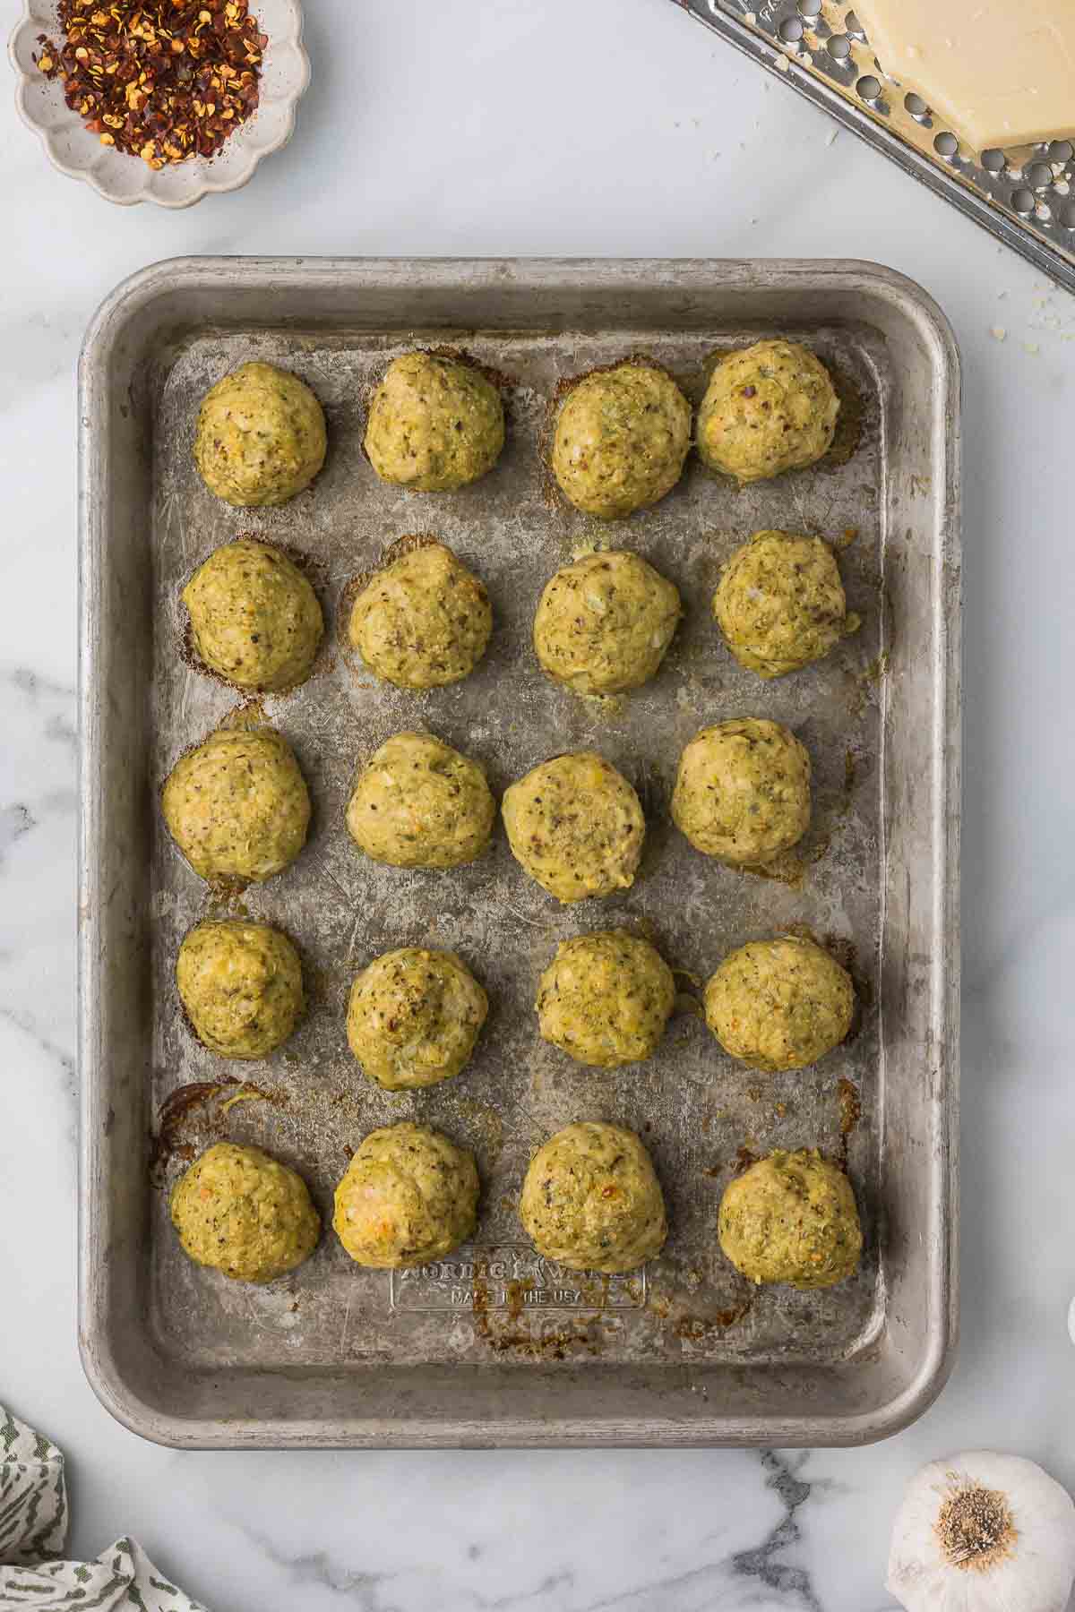
[{"label": "metal grater with round holes under the cheese block", "polygon": [[1075,142],[970,150],[885,73],[848,0],[675,5],[1075,292]]}]

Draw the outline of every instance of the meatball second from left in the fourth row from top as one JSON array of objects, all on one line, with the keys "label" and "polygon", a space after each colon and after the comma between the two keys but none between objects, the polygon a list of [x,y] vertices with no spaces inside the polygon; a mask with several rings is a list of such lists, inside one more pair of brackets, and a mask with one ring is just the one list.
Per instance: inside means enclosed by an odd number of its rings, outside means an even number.
[{"label": "meatball second from left in the fourth row from top", "polygon": [[454,951],[403,946],[363,969],[347,1006],[347,1040],[387,1091],[451,1080],[469,1062],[488,998]]}]

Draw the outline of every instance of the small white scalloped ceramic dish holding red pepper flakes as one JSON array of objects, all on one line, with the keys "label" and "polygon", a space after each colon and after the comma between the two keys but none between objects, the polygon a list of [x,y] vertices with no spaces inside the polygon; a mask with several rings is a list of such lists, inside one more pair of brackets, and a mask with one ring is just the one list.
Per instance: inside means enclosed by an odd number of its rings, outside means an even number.
[{"label": "small white scalloped ceramic dish holding red pepper flakes", "polygon": [[258,27],[268,34],[261,68],[261,97],[253,118],[240,124],[216,153],[153,169],[137,156],[110,150],[63,98],[63,82],[47,79],[34,55],[39,35],[58,40],[55,0],[24,0],[8,53],[18,77],[16,105],[23,121],[40,137],[50,161],[73,179],[85,179],[106,202],[131,206],[192,206],[211,192],[239,190],[263,156],[279,152],[295,129],[298,97],[309,82],[303,50],[300,0],[251,0]]}]

